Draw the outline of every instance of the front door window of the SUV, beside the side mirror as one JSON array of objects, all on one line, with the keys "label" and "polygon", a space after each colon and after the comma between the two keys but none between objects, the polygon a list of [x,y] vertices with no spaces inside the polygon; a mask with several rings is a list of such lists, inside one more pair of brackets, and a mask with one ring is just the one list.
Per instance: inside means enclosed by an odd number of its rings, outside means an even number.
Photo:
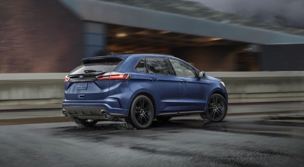
[{"label": "front door window of the SUV, beside the side mirror", "polygon": [[174,60],[174,59],[169,59],[169,60],[177,76],[191,77],[191,78],[197,77],[196,72],[192,67],[178,60]]}]

